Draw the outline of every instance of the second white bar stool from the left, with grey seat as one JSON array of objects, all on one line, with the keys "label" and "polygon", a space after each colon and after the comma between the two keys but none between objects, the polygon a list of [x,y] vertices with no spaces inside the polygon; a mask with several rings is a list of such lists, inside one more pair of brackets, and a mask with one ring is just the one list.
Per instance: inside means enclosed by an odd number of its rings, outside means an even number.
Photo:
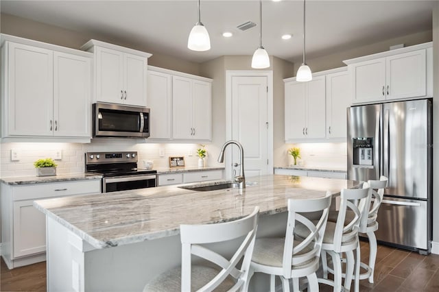
[{"label": "second white bar stool from the left, with grey seat", "polygon": [[[270,291],[275,291],[275,276],[280,276],[283,291],[289,291],[289,279],[294,279],[294,290],[298,289],[298,278],[307,277],[308,291],[318,291],[316,271],[324,230],[327,225],[331,193],[318,199],[288,199],[288,220],[285,238],[256,239],[250,276],[255,272],[270,274]],[[300,213],[322,211],[318,221],[311,221]],[[307,230],[303,239],[295,239],[296,222]],[[250,280],[249,280],[250,282]]]}]

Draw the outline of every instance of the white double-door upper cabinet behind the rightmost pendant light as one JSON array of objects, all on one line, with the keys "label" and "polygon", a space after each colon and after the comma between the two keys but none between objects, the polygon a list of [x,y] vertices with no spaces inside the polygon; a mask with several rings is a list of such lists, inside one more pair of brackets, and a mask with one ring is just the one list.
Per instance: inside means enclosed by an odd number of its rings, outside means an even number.
[{"label": "white double-door upper cabinet behind the rightmost pendant light", "polygon": [[285,82],[285,141],[325,138],[325,77]]}]

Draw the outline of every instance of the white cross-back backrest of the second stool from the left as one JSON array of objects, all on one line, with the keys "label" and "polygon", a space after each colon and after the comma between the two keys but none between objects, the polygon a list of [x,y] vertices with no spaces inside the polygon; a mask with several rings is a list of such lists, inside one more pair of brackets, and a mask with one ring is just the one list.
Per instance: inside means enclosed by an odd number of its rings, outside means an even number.
[{"label": "white cross-back backrest of the second stool from the left", "polygon": [[[283,276],[292,277],[292,269],[314,260],[318,263],[324,230],[327,226],[329,206],[331,206],[331,192],[327,192],[325,197],[318,199],[288,199],[288,220],[287,232],[285,235],[285,245],[283,249]],[[317,223],[301,213],[322,211],[322,215]],[[309,230],[309,235],[294,243],[294,228],[296,222],[302,223]]]}]

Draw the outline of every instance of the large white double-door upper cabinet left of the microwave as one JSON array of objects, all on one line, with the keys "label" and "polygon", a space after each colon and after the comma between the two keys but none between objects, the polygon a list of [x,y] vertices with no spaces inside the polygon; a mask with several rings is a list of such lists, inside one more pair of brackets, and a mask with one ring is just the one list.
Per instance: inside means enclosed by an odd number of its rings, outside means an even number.
[{"label": "large white double-door upper cabinet left of the microwave", "polygon": [[83,51],[3,35],[2,138],[91,138],[91,64]]}]

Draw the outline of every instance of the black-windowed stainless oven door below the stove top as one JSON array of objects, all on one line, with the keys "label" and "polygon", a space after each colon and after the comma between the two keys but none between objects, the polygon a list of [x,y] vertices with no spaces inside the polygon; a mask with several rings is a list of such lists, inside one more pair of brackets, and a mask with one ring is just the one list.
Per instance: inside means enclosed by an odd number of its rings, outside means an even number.
[{"label": "black-windowed stainless oven door below the stove top", "polygon": [[128,191],[136,188],[153,188],[156,175],[126,175],[102,179],[102,193]]}]

